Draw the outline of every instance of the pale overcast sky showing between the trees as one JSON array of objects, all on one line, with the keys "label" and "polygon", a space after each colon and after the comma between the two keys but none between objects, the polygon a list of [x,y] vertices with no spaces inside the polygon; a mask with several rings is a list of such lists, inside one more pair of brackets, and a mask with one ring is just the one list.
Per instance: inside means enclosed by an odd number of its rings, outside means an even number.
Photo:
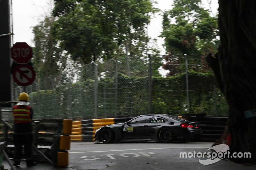
[{"label": "pale overcast sky showing between the trees", "polygon": [[[172,9],[173,0],[156,0],[158,4],[154,7],[164,10]],[[218,8],[218,0],[212,1],[212,10],[216,14]],[[43,20],[46,14],[51,11],[52,0],[12,0],[12,23],[13,23],[13,43],[26,42],[30,46],[33,45],[34,34],[32,26],[36,26]],[[205,7],[209,9],[207,0],[203,0]],[[148,26],[148,35],[157,39],[158,48],[162,48],[163,39],[158,36],[162,31],[162,17],[155,15]]]}]

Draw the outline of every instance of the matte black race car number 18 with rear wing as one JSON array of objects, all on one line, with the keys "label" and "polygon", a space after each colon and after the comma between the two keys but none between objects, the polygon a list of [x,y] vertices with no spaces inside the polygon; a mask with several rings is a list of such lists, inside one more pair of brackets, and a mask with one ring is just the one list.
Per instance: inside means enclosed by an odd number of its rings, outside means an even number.
[{"label": "matte black race car number 18 with rear wing", "polygon": [[[140,115],[125,123],[102,126],[95,132],[95,142],[186,142],[200,138],[202,129],[197,119],[205,114]],[[193,121],[189,118],[194,116]]]}]

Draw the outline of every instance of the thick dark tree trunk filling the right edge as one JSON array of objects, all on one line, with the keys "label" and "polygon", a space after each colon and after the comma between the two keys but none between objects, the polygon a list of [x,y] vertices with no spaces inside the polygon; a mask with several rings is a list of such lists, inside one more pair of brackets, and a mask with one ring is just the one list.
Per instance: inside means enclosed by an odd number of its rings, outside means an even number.
[{"label": "thick dark tree trunk filling the right edge", "polygon": [[[234,162],[256,163],[256,1],[219,0],[219,52],[207,61],[214,70],[229,105],[230,152],[250,152],[251,158]],[[249,111],[250,112],[250,111]]]}]

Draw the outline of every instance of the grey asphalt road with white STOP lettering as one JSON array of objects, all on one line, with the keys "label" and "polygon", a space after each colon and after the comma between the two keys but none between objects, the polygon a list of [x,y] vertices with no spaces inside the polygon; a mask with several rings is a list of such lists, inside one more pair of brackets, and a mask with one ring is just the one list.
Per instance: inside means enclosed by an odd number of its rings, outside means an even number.
[{"label": "grey asphalt road with white STOP lettering", "polygon": [[[72,142],[69,167],[76,170],[170,170],[170,169],[255,169],[221,159],[203,165],[196,156],[180,158],[181,152],[204,153],[211,142],[186,143],[113,143]],[[189,155],[188,155],[189,156]],[[199,155],[200,156],[200,155]]]}]

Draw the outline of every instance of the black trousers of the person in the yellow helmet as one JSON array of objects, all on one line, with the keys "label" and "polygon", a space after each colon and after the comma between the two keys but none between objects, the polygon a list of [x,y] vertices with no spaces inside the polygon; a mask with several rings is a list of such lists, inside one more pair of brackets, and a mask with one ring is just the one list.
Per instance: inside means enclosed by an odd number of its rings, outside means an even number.
[{"label": "black trousers of the person in the yellow helmet", "polygon": [[33,134],[26,135],[17,135],[13,134],[14,141],[14,162],[20,162],[22,156],[22,146],[24,146],[24,156],[28,162],[32,162],[33,159],[33,150],[32,150],[32,142],[33,142]]}]

